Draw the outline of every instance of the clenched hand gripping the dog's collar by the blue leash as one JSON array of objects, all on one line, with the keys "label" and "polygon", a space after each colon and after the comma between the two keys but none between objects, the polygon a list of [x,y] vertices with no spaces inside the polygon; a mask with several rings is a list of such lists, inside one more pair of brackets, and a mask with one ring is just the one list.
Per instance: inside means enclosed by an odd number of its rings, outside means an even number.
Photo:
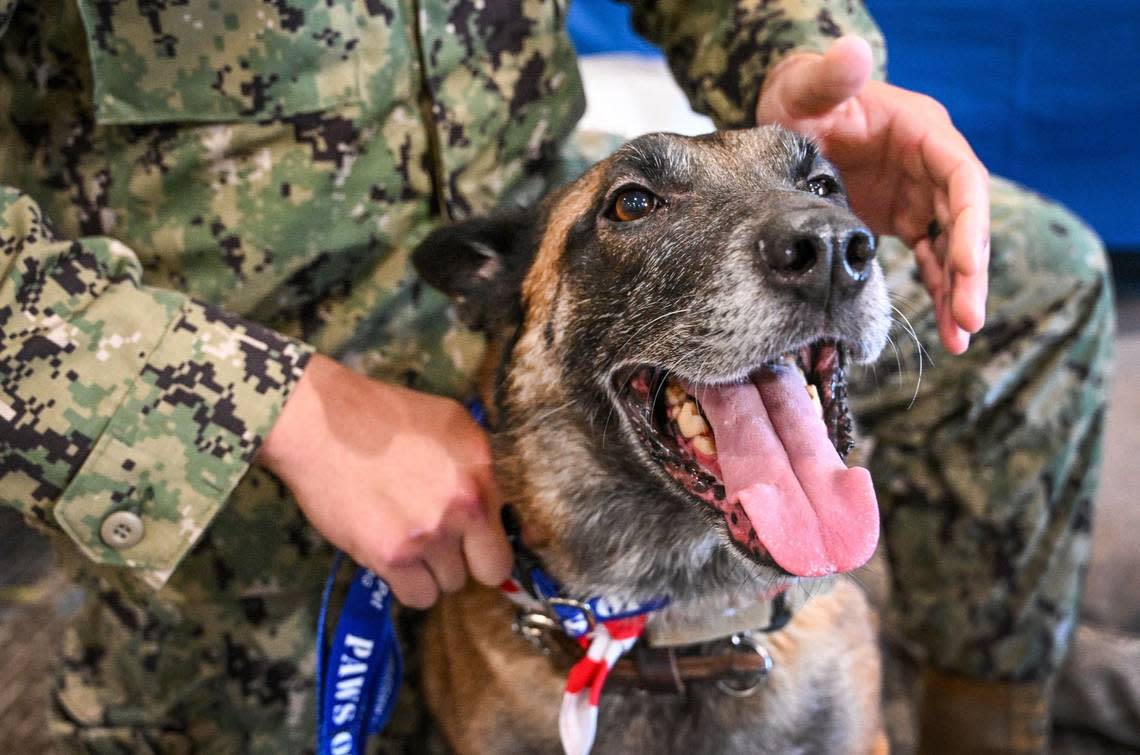
[{"label": "clenched hand gripping the dog's collar by the blue leash", "polygon": [[406,606],[510,575],[487,437],[456,401],[314,355],[258,462]]}]

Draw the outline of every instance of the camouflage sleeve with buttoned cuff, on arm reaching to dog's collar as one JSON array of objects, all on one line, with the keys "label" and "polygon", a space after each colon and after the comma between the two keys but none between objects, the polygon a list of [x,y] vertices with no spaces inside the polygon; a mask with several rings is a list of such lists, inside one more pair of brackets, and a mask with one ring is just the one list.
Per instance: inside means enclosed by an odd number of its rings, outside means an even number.
[{"label": "camouflage sleeve with buttoned cuff, on arm reaching to dog's collar", "polygon": [[140,284],[0,189],[0,504],[157,588],[244,474],[310,349]]}]

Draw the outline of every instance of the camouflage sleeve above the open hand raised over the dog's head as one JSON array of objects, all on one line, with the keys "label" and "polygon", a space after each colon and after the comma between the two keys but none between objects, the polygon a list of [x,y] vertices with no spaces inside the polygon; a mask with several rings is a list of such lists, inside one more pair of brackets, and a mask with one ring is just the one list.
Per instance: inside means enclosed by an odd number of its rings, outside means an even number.
[{"label": "camouflage sleeve above the open hand raised over the dog's head", "polygon": [[694,109],[717,128],[756,123],[764,76],[792,52],[823,52],[844,34],[871,43],[874,76],[887,48],[861,0],[624,0],[634,29],[661,47]]}]

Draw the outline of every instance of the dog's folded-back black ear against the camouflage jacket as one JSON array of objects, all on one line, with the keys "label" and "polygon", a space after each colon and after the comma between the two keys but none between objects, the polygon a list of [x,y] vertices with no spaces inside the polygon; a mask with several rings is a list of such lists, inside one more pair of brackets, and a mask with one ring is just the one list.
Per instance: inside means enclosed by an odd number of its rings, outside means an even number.
[{"label": "dog's folded-back black ear against the camouflage jacket", "polygon": [[437,228],[412,262],[451,298],[467,327],[490,332],[521,317],[522,279],[532,257],[532,211],[516,209]]}]

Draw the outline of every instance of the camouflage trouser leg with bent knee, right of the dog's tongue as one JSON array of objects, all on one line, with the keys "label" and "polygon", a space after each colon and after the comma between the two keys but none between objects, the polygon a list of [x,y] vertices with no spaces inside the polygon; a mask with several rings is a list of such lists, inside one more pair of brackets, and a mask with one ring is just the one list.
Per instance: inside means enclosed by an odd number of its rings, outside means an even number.
[{"label": "camouflage trouser leg with bent knee, right of the dog's tongue", "polygon": [[[880,245],[899,327],[852,408],[882,511],[887,625],[944,672],[1036,681],[1060,665],[1089,561],[1112,277],[1064,208],[997,179],[991,205],[986,326],[961,357],[940,348],[910,252]],[[917,391],[911,324],[927,350]]]}]

